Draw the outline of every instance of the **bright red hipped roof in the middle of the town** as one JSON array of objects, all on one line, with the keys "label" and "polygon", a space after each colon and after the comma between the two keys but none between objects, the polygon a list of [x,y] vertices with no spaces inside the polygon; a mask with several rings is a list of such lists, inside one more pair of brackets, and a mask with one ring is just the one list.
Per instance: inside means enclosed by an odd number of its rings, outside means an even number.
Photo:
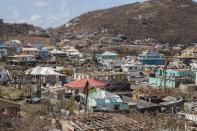
[{"label": "bright red hipped roof in the middle of the town", "polygon": [[64,84],[65,87],[70,88],[84,88],[88,82],[89,87],[103,87],[105,86],[104,83],[97,81],[95,79],[80,79],[76,81],[72,81],[70,83]]}]

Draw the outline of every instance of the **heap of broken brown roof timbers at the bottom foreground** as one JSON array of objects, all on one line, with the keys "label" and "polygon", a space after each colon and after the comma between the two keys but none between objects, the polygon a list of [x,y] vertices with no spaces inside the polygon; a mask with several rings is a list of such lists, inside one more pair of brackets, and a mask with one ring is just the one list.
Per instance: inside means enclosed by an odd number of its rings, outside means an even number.
[{"label": "heap of broken brown roof timbers at the bottom foreground", "polygon": [[91,113],[71,118],[76,130],[138,131],[147,126],[132,118],[113,113]]}]

